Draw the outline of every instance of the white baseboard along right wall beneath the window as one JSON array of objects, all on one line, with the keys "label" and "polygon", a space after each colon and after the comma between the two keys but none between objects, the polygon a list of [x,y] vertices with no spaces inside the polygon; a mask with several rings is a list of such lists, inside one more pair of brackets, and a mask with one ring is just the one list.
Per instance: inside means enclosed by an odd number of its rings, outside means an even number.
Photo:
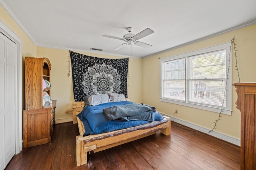
[{"label": "white baseboard along right wall beneath the window", "polygon": [[[162,113],[161,113],[161,114],[162,114]],[[165,114],[162,114],[162,115],[165,115]],[[170,115],[166,115],[166,116],[171,117],[171,120],[174,119],[174,118],[173,118],[172,116],[170,116]],[[198,131],[200,131],[200,132],[202,132],[202,133],[207,133],[207,132],[209,132],[209,131],[211,130],[211,129],[206,129],[206,128],[204,128],[204,127],[200,127],[200,126],[198,126],[198,125],[194,125],[194,124],[192,124],[192,123],[183,121],[183,120],[178,119],[178,118],[176,118],[176,117],[175,117],[175,119],[174,119],[174,122],[179,123],[179,124],[184,125],[184,126],[187,126],[187,127],[190,127],[190,128],[192,128],[192,129],[198,130]],[[227,136],[227,135],[224,135],[224,134],[222,134],[222,133],[215,132],[215,131],[213,131],[212,133],[208,133],[208,135],[211,135],[211,136],[213,136],[213,137],[216,137],[216,138],[221,139],[221,140],[223,140],[223,141],[227,141],[227,142],[229,142],[229,143],[232,143],[232,144],[237,145],[237,146],[240,147],[240,139],[236,139],[236,138],[234,138],[234,137],[230,137],[230,136]]]}]

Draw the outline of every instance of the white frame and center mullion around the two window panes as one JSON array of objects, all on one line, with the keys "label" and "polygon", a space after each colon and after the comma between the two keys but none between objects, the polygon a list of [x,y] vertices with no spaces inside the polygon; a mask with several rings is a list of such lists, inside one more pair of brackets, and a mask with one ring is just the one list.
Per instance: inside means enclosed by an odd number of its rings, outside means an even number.
[{"label": "white frame and center mullion around the two window panes", "polygon": [[[208,47],[205,49],[200,49],[197,51],[192,51],[192,52],[188,52],[188,53],[184,53],[181,55],[176,55],[176,56],[172,56],[172,57],[168,57],[168,58],[164,58],[164,59],[160,59],[160,101],[162,102],[168,102],[168,103],[172,103],[172,104],[178,104],[178,105],[182,105],[182,106],[188,106],[188,107],[194,107],[194,108],[198,108],[198,109],[203,109],[203,110],[207,110],[207,111],[213,111],[216,113],[224,113],[227,115],[231,115],[232,112],[232,51],[230,49],[231,43],[224,43],[224,44],[220,44],[220,45],[216,45],[213,47]],[[217,106],[207,106],[204,104],[198,104],[198,103],[192,103],[192,102],[188,102],[188,93],[189,93],[189,68],[188,68],[188,59],[191,56],[196,56],[196,55],[201,55],[204,53],[210,53],[210,52],[214,52],[214,51],[218,51],[218,50],[226,50],[226,77],[225,77],[225,83],[227,82],[227,86],[226,86],[226,107],[217,107]],[[180,101],[180,100],[174,100],[174,99],[170,99],[170,98],[164,98],[164,63],[166,61],[172,61],[172,60],[177,60],[177,59],[181,59],[181,58],[185,58],[185,101]],[[227,75],[228,72],[228,75]],[[227,79],[228,78],[228,79]]]}]

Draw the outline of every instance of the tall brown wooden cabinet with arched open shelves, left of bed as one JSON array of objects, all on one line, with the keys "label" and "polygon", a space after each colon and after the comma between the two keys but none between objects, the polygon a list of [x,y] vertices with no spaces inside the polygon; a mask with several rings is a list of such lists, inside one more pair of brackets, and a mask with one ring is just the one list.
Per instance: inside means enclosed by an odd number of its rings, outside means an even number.
[{"label": "tall brown wooden cabinet with arched open shelves, left of bed", "polygon": [[56,100],[43,105],[42,79],[50,82],[51,64],[47,58],[25,57],[25,110],[23,111],[23,147],[49,143],[55,125]]}]

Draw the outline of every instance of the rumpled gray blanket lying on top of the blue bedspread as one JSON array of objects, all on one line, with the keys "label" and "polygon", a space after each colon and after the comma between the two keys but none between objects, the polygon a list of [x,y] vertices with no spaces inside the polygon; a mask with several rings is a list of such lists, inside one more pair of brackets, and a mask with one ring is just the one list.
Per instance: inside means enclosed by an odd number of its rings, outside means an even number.
[{"label": "rumpled gray blanket lying on top of the blue bedspread", "polygon": [[[127,117],[135,116],[135,115],[139,115],[140,113],[151,112],[151,111],[156,111],[156,107],[152,107],[144,104],[127,104],[127,105],[121,105],[121,106],[111,106],[103,109],[103,113],[106,115],[106,117],[110,121],[119,119],[121,117],[128,120]],[[152,116],[152,113],[149,113],[148,116]]]}]

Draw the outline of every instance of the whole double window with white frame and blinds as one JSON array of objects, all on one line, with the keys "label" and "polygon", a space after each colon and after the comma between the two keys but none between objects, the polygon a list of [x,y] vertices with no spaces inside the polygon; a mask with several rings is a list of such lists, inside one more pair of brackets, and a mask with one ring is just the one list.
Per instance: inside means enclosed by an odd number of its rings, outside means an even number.
[{"label": "whole double window with white frame and blinds", "polygon": [[161,59],[160,100],[230,115],[229,54],[230,43],[225,43]]}]

